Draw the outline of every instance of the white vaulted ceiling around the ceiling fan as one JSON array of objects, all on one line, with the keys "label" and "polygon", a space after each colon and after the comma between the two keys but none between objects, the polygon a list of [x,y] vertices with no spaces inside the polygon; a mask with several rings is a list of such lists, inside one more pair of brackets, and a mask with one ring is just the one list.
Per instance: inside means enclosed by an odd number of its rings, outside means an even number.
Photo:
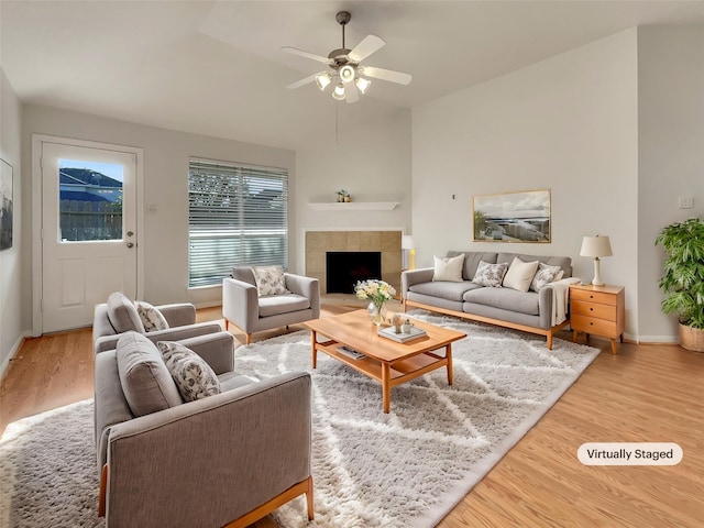
[{"label": "white vaulted ceiling around the ceiling fan", "polygon": [[[342,9],[348,47],[381,36],[386,46],[363,64],[413,74],[409,86],[375,80],[354,105],[315,85],[285,89],[323,68],[280,47],[341,47]],[[1,0],[0,10],[1,65],[24,102],[288,148],[329,135],[336,119],[378,119],[628,28],[704,23],[704,1]]]}]

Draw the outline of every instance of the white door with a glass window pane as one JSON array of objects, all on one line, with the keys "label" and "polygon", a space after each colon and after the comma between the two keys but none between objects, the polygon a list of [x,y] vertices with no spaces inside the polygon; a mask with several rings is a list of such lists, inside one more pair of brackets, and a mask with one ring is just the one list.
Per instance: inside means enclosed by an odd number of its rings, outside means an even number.
[{"label": "white door with a glass window pane", "polygon": [[42,142],[42,332],[92,323],[136,295],[136,155]]}]

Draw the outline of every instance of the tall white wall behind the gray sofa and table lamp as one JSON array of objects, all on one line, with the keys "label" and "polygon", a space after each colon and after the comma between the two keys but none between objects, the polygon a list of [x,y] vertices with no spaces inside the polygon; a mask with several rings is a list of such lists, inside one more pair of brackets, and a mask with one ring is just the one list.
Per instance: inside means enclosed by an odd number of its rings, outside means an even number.
[{"label": "tall white wall behind the gray sofa and table lamp", "polygon": [[[582,237],[605,234],[602,275],[626,287],[637,336],[637,134],[636,29],[415,108],[417,264],[448,250],[569,255],[591,280]],[[531,189],[551,190],[551,243],[472,242],[473,195]]]}]

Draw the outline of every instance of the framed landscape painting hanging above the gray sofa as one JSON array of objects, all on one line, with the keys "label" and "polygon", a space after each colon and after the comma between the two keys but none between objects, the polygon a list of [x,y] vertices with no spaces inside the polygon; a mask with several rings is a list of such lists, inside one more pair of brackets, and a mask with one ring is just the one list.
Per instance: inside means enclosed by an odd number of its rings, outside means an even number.
[{"label": "framed landscape painting hanging above the gray sofa", "polygon": [[550,190],[473,198],[475,242],[550,242]]}]

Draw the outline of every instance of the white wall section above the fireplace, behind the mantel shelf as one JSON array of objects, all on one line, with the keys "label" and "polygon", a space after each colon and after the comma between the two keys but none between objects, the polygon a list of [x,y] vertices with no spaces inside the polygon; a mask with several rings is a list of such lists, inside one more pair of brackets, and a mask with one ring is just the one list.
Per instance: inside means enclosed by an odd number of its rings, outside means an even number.
[{"label": "white wall section above the fireplace, behind the mantel shelf", "polygon": [[[373,99],[363,103],[376,105]],[[410,229],[410,110],[378,105],[373,119],[351,127],[348,117],[353,111],[354,105],[340,105],[338,134],[331,120],[330,133],[322,142],[296,152],[297,267],[301,271],[305,231]],[[392,211],[318,211],[307,205],[334,201],[336,191],[341,188],[351,194],[353,201],[400,205]]]}]

